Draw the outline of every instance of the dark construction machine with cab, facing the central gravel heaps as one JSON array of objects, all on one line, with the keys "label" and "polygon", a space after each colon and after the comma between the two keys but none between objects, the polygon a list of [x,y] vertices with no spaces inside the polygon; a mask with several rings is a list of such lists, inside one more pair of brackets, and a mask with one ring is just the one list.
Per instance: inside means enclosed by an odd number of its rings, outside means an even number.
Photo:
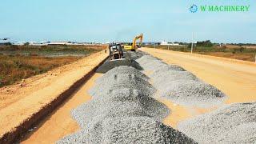
[{"label": "dark construction machine with cab, facing the central gravel heaps", "polygon": [[123,51],[121,44],[112,43],[109,45],[110,61],[123,58]]}]

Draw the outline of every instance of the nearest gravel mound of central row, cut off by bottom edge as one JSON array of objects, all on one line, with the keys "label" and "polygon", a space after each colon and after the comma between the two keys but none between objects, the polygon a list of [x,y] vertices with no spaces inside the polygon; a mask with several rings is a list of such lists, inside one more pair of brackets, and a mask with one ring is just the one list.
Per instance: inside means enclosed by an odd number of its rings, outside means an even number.
[{"label": "nearest gravel mound of central row, cut off by bottom edge", "polygon": [[147,117],[107,118],[58,143],[195,143],[185,134]]}]

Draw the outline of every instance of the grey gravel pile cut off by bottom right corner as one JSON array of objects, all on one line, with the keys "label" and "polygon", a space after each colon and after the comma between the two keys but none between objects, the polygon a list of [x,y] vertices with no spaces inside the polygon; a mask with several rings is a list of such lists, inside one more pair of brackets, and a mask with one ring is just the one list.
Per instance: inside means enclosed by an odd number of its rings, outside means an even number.
[{"label": "grey gravel pile cut off by bottom right corner", "polygon": [[256,143],[256,102],[223,106],[178,124],[199,143]]}]

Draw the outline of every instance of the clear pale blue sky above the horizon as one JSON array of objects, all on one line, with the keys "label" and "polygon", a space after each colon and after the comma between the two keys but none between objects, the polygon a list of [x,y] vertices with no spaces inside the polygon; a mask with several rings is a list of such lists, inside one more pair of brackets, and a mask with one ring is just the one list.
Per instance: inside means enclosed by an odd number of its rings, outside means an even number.
[{"label": "clear pale blue sky above the horizon", "polygon": [[[249,12],[195,13],[200,5],[250,5]],[[13,41],[197,41],[256,43],[254,0],[1,0],[0,38]]]}]

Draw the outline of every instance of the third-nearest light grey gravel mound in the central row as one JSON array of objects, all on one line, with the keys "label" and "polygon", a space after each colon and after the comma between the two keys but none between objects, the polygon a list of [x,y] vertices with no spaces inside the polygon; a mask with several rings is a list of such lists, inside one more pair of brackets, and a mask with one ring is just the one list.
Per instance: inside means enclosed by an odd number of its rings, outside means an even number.
[{"label": "third-nearest light grey gravel mound in the central row", "polygon": [[[89,94],[94,97],[104,97],[104,95],[109,94],[112,90],[130,88],[139,90],[139,93],[142,93],[142,95],[154,95],[156,90],[145,80],[146,76],[139,74],[139,72],[132,74],[134,69],[130,68],[129,70],[128,68],[128,66],[122,66],[121,68],[116,67],[110,70],[106,76],[97,81],[97,84],[100,86],[96,85],[91,88]],[[126,69],[126,73],[119,72],[120,69]]]}]

